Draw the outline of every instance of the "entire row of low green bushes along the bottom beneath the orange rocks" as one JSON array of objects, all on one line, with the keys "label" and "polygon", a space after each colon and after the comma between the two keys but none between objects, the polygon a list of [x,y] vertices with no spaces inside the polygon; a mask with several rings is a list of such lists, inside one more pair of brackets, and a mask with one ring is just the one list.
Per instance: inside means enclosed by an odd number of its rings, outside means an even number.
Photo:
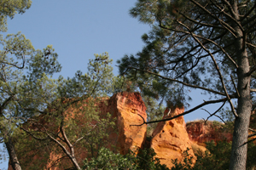
[{"label": "entire row of low green bushes along the bottom beneath the orange rocks", "polygon": [[[255,144],[248,145],[247,169],[256,166],[254,161]],[[193,157],[189,156],[189,149],[183,152],[183,161],[172,160],[174,167],[172,170],[207,170],[207,169],[229,169],[231,143],[219,141],[215,144],[213,141],[207,143],[207,150],[199,150],[195,153],[197,160],[193,162]],[[138,154],[131,152],[125,156],[114,154],[112,151],[102,148],[96,158],[85,159],[85,169],[154,169],[167,170],[165,165],[161,165],[159,159],[154,158],[155,153],[152,149],[139,150]]]}]

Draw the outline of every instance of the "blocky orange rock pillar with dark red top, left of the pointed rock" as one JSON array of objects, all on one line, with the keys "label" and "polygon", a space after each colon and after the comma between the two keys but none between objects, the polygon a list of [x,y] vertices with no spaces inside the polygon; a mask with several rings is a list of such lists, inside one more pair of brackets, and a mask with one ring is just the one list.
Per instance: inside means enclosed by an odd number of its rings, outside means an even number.
[{"label": "blocky orange rock pillar with dark red top, left of the pointed rock", "polygon": [[147,125],[131,126],[142,124],[143,119],[147,120],[147,108],[141,95],[129,92],[114,94],[109,99],[108,108],[113,117],[117,117],[120,153],[125,155],[129,150],[142,148],[146,139]]}]

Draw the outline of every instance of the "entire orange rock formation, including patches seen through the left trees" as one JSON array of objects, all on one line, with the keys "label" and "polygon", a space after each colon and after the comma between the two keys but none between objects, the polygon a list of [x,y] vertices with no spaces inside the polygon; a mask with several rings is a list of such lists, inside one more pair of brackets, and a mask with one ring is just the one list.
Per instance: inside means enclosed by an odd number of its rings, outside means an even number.
[{"label": "entire orange rock formation, including patches seen through the left trees", "polygon": [[[86,102],[84,103],[86,106]],[[231,133],[225,132],[219,122],[207,122],[207,124],[204,124],[202,121],[195,121],[186,124],[183,116],[180,116],[171,121],[159,122],[152,133],[152,139],[150,141],[148,140],[148,143],[145,144],[147,125],[143,124],[143,119],[145,121],[147,120],[147,114],[143,99],[139,93],[123,92],[113,94],[111,98],[98,99],[93,105],[96,106],[100,116],[104,117],[107,113],[110,113],[111,117],[115,119],[115,128],[118,133],[110,129],[109,132],[112,133],[109,133],[108,136],[109,149],[113,149],[112,145],[114,145],[121,154],[125,155],[129,150],[137,150],[148,145],[147,147],[154,149],[156,157],[160,159],[160,163],[166,164],[169,168],[173,166],[172,160],[177,159],[177,161],[183,161],[183,151],[188,148],[189,155],[195,158],[194,150],[206,150],[204,147],[205,142],[210,140],[216,142],[223,139],[231,141],[232,139]],[[83,126],[83,123],[87,121],[83,116],[83,108],[84,106],[79,108],[79,111],[76,111],[73,107],[69,108],[67,112],[71,114],[68,114],[69,117],[66,117],[66,119],[78,119],[79,123],[77,123],[77,125]],[[163,118],[179,115],[183,113],[183,111],[183,107],[172,107],[169,113],[169,109],[167,108]],[[40,122],[45,124],[44,119]],[[143,125],[131,126],[140,124]],[[54,125],[49,123],[46,125],[54,127]],[[31,128],[35,129],[36,127],[31,125]],[[78,149],[75,149],[76,157],[79,163],[82,163],[87,157],[87,153],[83,147],[79,146],[77,148]],[[35,156],[29,161],[34,164],[40,159],[40,153],[31,153]],[[54,152],[50,152],[49,158],[47,159],[54,162],[60,157],[61,156],[56,155]],[[26,159],[26,156],[23,158]],[[22,158],[20,162],[22,163]],[[44,167],[46,161],[41,162],[43,162],[41,167]],[[72,167],[72,162],[68,159],[60,161],[60,164],[65,165],[65,167]],[[50,167],[49,161],[46,167],[47,169]],[[50,169],[61,170],[63,168],[51,167]],[[9,170],[12,170],[10,166]]]}]

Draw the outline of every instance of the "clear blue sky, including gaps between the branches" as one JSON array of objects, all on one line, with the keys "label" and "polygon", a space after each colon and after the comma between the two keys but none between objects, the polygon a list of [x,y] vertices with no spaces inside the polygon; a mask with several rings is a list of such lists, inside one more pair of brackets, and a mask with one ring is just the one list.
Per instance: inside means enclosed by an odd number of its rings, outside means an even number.
[{"label": "clear blue sky, including gaps between the branches", "polygon": [[[25,14],[8,20],[7,33],[21,31],[36,49],[52,44],[59,54],[59,75],[63,77],[73,77],[79,70],[87,72],[89,59],[104,52],[113,59],[113,73],[118,75],[116,60],[125,54],[137,54],[144,45],[141,36],[150,30],[129,15],[135,3],[136,0],[34,0]],[[200,91],[192,92],[191,97],[191,107],[208,99]],[[214,111],[216,107],[206,109]],[[207,116],[205,111],[198,110],[184,118],[192,121]],[[0,169],[3,167],[7,169],[7,161],[0,164]]]}]

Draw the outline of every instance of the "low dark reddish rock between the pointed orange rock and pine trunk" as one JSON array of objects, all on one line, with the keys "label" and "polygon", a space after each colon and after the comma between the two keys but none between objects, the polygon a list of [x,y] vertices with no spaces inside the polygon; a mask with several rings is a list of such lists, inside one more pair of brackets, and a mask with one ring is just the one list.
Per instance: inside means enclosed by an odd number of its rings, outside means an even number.
[{"label": "low dark reddish rock between the pointed orange rock and pine trunk", "polygon": [[191,141],[195,144],[205,146],[205,143],[211,140],[214,142],[224,139],[228,142],[232,141],[232,133],[225,130],[222,125],[223,124],[220,122],[207,121],[205,123],[203,120],[200,120],[188,122],[186,129]]}]

